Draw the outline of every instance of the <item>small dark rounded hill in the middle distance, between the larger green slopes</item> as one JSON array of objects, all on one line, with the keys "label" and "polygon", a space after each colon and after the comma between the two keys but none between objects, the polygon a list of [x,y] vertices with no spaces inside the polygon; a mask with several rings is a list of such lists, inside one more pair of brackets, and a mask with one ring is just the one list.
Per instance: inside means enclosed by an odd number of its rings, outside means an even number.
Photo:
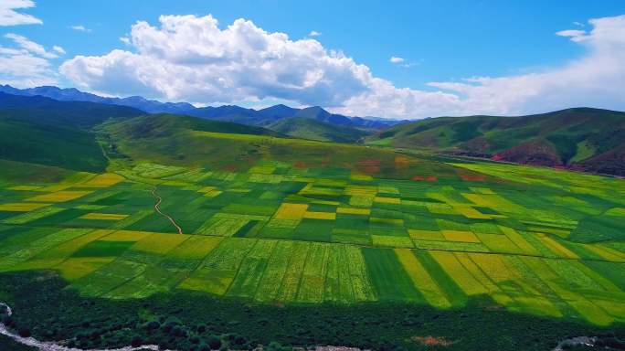
[{"label": "small dark rounded hill in the middle distance, between the larger green slopes", "polygon": [[268,128],[296,138],[335,143],[357,143],[370,134],[347,125],[335,125],[304,117],[283,119],[270,124]]}]

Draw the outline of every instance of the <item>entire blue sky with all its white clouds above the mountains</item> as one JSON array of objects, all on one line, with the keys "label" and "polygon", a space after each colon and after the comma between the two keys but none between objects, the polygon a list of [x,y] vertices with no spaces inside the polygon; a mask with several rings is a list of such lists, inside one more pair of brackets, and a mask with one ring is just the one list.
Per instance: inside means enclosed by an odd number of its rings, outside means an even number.
[{"label": "entire blue sky with all its white clouds above the mountains", "polygon": [[418,119],[625,110],[625,1],[0,0],[0,83]]}]

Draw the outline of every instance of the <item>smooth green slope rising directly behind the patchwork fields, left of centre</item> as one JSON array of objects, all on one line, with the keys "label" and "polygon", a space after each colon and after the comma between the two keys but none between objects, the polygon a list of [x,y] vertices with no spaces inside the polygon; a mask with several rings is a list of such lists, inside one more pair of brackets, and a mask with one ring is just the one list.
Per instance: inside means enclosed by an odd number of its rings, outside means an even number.
[{"label": "smooth green slope rising directly behind the patchwork fields, left of centre", "polygon": [[[260,127],[210,122],[175,115],[151,115],[103,124],[101,136],[122,158],[165,165],[209,166],[219,170],[247,171],[261,161],[283,162],[303,168],[343,167],[366,174],[406,177],[408,165],[396,167],[398,155],[391,150],[352,144],[333,144],[280,136]],[[233,133],[233,132],[238,133]],[[422,161],[423,172],[447,165]]]}]

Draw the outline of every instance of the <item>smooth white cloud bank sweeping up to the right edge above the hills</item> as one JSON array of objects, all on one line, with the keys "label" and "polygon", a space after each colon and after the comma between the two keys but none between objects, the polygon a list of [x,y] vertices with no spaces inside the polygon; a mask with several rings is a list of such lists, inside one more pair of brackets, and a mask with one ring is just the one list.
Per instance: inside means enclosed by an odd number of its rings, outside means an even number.
[{"label": "smooth white cloud bank sweeping up to the right edge above the hills", "polygon": [[377,87],[346,101],[337,111],[425,117],[518,115],[576,106],[625,110],[625,16],[595,18],[588,23],[592,27],[588,32],[565,33],[587,52],[562,67],[507,77],[432,82],[429,86],[439,91],[429,93]]}]

